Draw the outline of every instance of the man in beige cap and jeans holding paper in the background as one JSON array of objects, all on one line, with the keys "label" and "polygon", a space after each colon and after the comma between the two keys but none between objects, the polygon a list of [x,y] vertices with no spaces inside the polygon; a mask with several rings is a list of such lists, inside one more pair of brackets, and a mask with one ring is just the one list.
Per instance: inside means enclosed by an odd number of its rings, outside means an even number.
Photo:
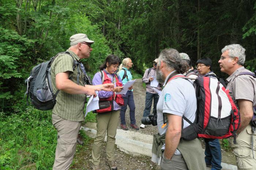
[{"label": "man in beige cap and jeans holding paper in the background", "polygon": [[[150,115],[150,110],[151,110],[151,106],[152,106],[152,102],[154,99],[154,107],[153,107],[153,115],[157,115],[157,102],[159,99],[159,95],[156,91],[153,90],[153,87],[151,87],[151,81],[153,81],[155,79],[155,70],[157,69],[157,62],[158,59],[155,59],[153,61],[153,67],[152,68],[148,68],[145,73],[144,76],[142,78],[142,82],[146,83],[146,100],[145,100],[145,109],[143,112],[143,118],[147,117]],[[157,90],[161,90],[161,86],[158,83],[157,87],[154,87]],[[147,125],[146,124],[142,124],[140,125],[140,128],[145,128]]]}]

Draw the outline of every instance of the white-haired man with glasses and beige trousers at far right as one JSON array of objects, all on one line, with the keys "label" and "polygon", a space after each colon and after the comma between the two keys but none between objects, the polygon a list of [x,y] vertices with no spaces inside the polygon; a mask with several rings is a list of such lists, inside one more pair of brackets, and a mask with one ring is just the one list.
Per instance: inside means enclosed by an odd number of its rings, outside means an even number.
[{"label": "white-haired man with glasses and beige trousers at far right", "polygon": [[253,134],[251,119],[256,105],[256,80],[251,71],[244,68],[245,49],[239,44],[225,46],[219,60],[221,71],[229,75],[226,79],[229,94],[239,108],[241,123],[237,131],[237,143],[229,138],[230,147],[236,155],[238,169],[255,170],[256,134]]}]

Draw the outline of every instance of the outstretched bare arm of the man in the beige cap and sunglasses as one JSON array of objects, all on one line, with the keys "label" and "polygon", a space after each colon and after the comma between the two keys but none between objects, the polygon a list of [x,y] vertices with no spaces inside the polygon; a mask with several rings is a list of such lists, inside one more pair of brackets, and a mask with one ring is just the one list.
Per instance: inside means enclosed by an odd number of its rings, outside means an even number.
[{"label": "outstretched bare arm of the man in the beige cap and sunglasses", "polygon": [[97,86],[80,86],[68,79],[69,71],[60,72],[56,75],[56,87],[69,94],[87,94],[96,96],[95,90],[112,91],[113,84],[101,84]]}]

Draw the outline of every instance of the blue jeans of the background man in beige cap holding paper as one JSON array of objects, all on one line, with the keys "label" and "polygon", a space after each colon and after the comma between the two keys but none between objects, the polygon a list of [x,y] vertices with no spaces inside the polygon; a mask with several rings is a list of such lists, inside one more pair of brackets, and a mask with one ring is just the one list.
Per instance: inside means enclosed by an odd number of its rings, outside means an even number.
[{"label": "blue jeans of the background man in beige cap holding paper", "polygon": [[143,112],[143,117],[147,117],[148,115],[150,115],[150,110],[151,110],[153,99],[154,99],[153,114],[154,115],[157,114],[157,102],[159,99],[159,95],[158,95],[158,93],[154,94],[154,93],[146,92],[146,101],[145,101],[145,109]]}]

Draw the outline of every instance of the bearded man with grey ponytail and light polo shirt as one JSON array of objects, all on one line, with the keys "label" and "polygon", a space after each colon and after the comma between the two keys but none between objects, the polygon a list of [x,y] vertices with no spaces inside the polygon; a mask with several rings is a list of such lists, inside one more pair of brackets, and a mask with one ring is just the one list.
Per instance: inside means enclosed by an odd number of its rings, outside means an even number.
[{"label": "bearded man with grey ponytail and light polo shirt", "polygon": [[[189,126],[182,116],[190,122],[196,119],[196,94],[193,82],[177,78],[184,76],[186,70],[187,64],[181,62],[177,50],[169,48],[161,51],[156,76],[164,87],[157,103],[158,135],[165,135],[165,142],[161,147],[161,150],[164,150],[162,170],[206,170],[200,140],[181,139],[182,129]],[[152,160],[153,157],[154,155]]]}]

